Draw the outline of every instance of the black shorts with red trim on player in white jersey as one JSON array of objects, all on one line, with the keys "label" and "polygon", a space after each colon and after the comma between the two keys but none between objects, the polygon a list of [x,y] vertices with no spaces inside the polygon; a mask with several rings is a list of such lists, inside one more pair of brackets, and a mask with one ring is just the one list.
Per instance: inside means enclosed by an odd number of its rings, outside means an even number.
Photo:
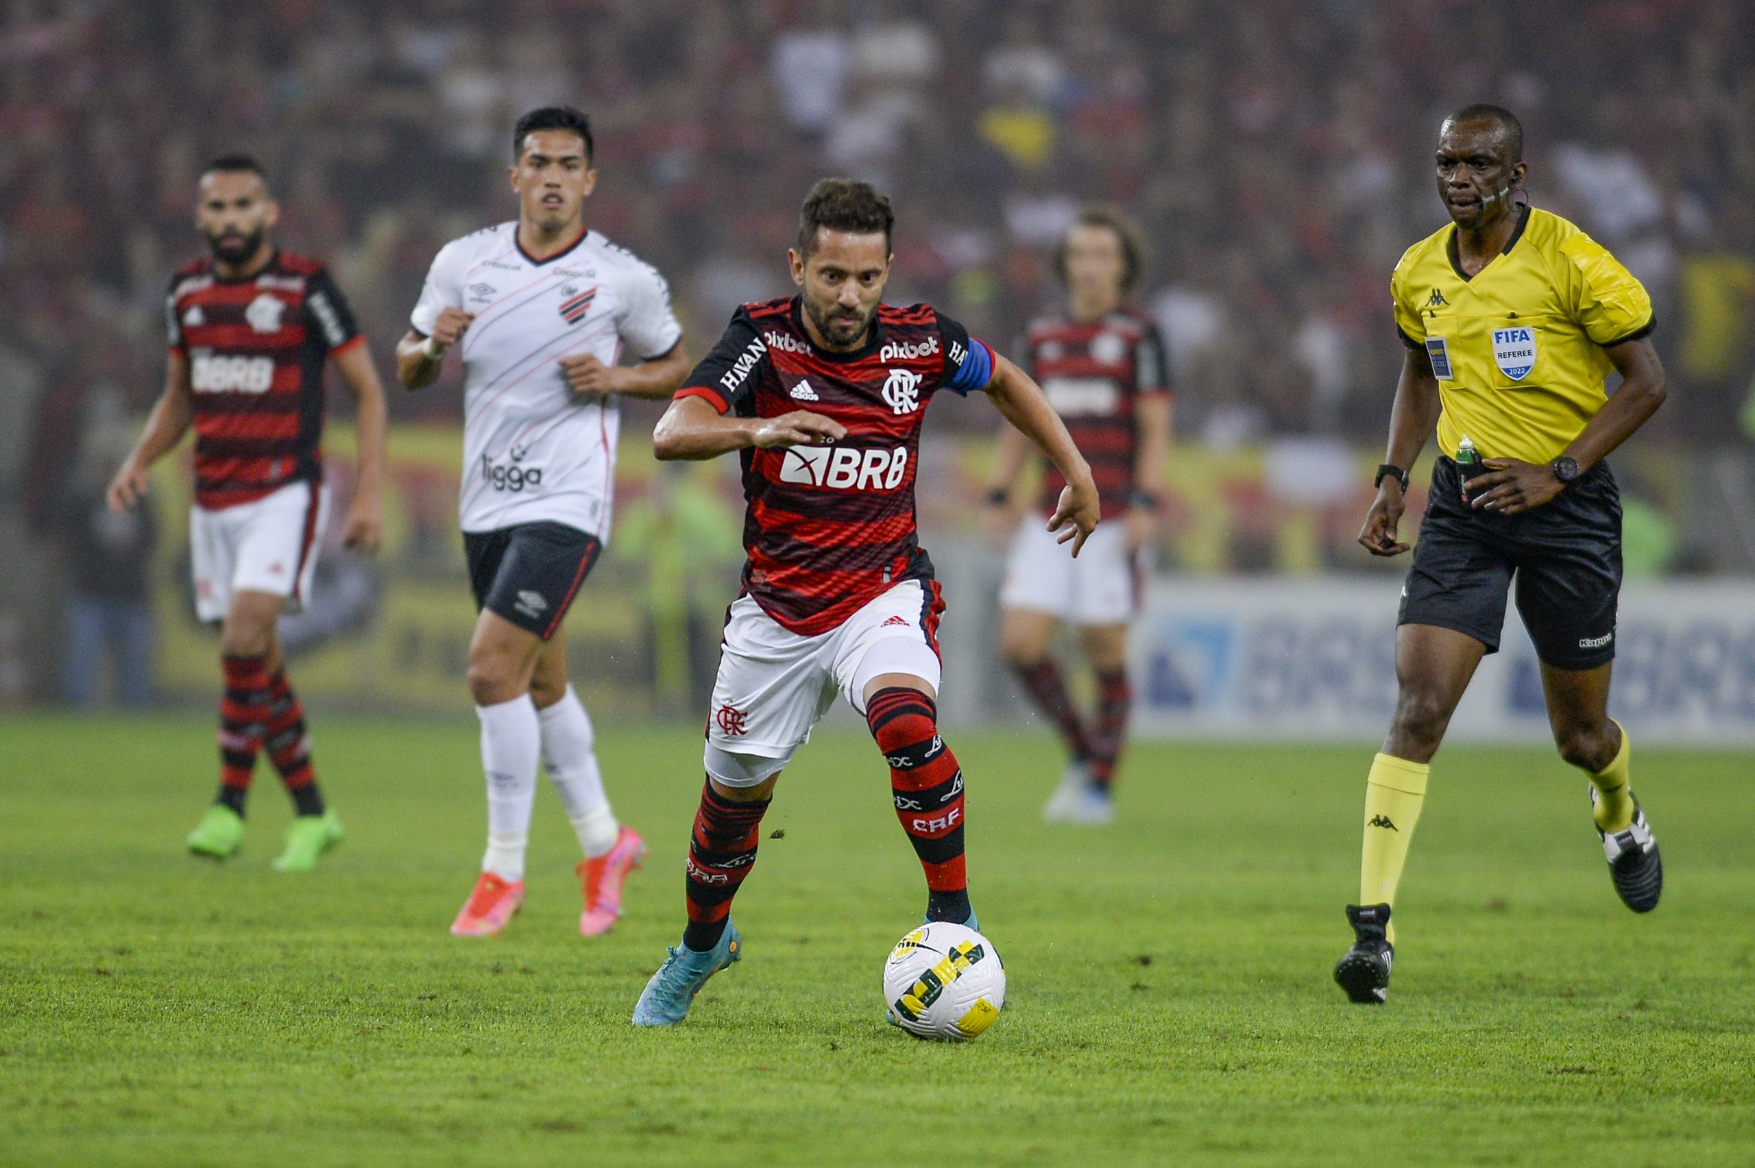
[{"label": "black shorts with red trim on player in white jersey", "polygon": [[476,609],[502,616],[542,640],[560,628],[602,551],[600,538],[565,523],[463,533]]}]

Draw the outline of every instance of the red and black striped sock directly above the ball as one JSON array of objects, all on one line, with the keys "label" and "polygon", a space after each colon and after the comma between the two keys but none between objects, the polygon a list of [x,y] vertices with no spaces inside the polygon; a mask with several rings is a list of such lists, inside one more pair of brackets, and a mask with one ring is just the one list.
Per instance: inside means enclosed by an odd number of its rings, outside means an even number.
[{"label": "red and black striped sock directly above the ball", "polygon": [[895,814],[927,870],[927,919],[969,919],[963,868],[963,772],[939,735],[932,698],[900,686],[865,703],[865,721],[890,763]]}]

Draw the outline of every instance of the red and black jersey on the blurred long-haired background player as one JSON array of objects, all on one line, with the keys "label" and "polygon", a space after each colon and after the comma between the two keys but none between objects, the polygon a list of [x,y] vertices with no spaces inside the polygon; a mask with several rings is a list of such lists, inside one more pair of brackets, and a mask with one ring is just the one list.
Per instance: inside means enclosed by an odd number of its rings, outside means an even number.
[{"label": "red and black jersey on the blurred long-haired background player", "polygon": [[[1137,309],[1118,309],[1097,321],[1064,314],[1030,324],[1023,340],[1025,368],[1067,424],[1097,481],[1102,517],[1127,510],[1139,449],[1139,398],[1169,395],[1169,372],[1158,326]],[[1067,481],[1042,468],[1041,507],[1053,512]]]}]

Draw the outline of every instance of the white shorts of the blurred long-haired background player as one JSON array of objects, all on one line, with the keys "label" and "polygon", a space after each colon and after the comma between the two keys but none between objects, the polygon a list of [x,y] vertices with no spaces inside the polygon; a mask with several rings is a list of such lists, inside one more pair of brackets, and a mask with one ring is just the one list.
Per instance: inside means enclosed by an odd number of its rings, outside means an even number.
[{"label": "white shorts of the blurred long-haired background player", "polygon": [[1011,540],[1000,609],[1028,609],[1074,624],[1127,624],[1139,612],[1139,563],[1127,528],[1111,519],[1092,531],[1079,558],[1057,544],[1048,516],[1025,516]]}]

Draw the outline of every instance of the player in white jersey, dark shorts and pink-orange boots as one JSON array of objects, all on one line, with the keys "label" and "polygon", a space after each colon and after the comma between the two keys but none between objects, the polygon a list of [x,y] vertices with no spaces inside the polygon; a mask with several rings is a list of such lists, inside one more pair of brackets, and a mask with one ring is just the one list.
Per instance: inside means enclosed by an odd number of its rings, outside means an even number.
[{"label": "player in white jersey, dark shorts and pink-orange boots", "polygon": [[[488,775],[488,851],[451,922],[490,937],[525,900],[525,845],[548,770],[584,859],[579,931],[607,933],[621,887],[646,856],[616,823],[591,719],[555,637],[609,540],[621,410],[614,395],[669,396],[688,358],[658,272],[584,226],[597,186],[591,125],[544,107],[512,130],[518,219],[446,244],[397,345],[409,389],[463,360],[463,484],[458,512],[479,617],[469,689]],[[637,365],[618,365],[623,345]]]}]

